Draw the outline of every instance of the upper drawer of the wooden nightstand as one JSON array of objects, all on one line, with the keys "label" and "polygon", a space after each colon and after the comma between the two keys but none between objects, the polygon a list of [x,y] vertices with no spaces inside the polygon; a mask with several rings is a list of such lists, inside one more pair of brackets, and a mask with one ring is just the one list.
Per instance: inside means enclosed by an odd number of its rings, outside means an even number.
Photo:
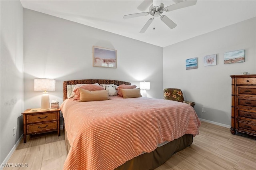
[{"label": "upper drawer of the wooden nightstand", "polygon": [[53,113],[44,113],[44,114],[38,114],[38,115],[28,115],[27,116],[27,123],[36,123],[36,122],[42,122],[42,121],[56,121],[57,118],[57,112]]}]

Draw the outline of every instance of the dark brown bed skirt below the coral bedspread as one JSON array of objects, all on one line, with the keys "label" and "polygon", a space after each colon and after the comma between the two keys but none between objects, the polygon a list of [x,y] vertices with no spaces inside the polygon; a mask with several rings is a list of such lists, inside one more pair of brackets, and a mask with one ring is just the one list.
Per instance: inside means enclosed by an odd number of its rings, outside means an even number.
[{"label": "dark brown bed skirt below the coral bedspread", "polygon": [[[67,139],[67,133],[64,128],[66,151],[70,150],[70,144]],[[153,170],[158,166],[164,164],[175,152],[178,152],[187,146],[190,146],[193,142],[192,134],[185,134],[178,139],[175,139],[163,146],[157,147],[150,153],[144,153],[139,156],[128,160],[124,164],[115,168],[115,170]]]}]

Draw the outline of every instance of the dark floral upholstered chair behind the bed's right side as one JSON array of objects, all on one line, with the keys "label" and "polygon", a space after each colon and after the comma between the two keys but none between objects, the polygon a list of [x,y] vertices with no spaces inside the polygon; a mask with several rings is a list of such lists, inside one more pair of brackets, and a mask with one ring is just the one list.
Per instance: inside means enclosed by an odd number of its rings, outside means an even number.
[{"label": "dark floral upholstered chair behind the bed's right side", "polygon": [[174,100],[174,101],[179,101],[183,103],[187,103],[188,105],[194,107],[196,103],[192,101],[185,101],[183,97],[183,93],[180,89],[164,89],[164,99],[165,100]]}]

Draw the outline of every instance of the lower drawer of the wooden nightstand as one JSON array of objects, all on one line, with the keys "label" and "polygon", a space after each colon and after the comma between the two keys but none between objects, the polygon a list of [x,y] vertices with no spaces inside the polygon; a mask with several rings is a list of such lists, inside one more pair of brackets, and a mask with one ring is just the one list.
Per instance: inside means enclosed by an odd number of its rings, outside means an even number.
[{"label": "lower drawer of the wooden nightstand", "polygon": [[27,134],[43,132],[46,130],[58,129],[57,121],[27,125]]}]

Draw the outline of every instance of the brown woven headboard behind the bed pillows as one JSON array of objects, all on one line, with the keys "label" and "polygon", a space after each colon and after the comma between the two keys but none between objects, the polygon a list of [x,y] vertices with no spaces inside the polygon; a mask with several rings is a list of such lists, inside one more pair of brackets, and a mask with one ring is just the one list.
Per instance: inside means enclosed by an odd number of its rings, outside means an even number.
[{"label": "brown woven headboard behind the bed pillows", "polygon": [[84,80],[68,80],[63,82],[63,101],[67,99],[67,85],[76,85],[76,84],[115,84],[115,85],[131,85],[130,82],[118,81],[118,80],[104,80],[104,79],[84,79]]}]

